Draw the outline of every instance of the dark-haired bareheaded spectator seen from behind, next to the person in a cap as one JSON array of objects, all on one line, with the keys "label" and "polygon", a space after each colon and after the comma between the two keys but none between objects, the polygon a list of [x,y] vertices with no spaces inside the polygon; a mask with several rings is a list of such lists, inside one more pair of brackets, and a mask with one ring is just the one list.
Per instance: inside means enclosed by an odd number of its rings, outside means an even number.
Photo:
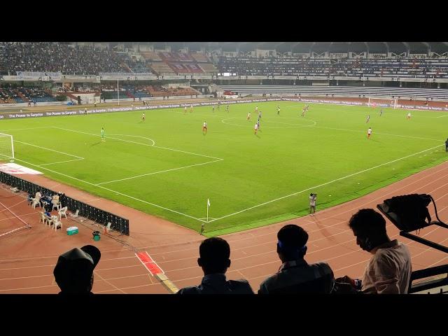
[{"label": "dark-haired bareheaded spectator seen from behind, next to the person in a cap", "polygon": [[230,267],[230,246],[227,241],[219,237],[205,239],[199,253],[197,265],[204,271],[201,284],[182,288],[178,294],[253,294],[247,280],[225,279],[225,272]]}]

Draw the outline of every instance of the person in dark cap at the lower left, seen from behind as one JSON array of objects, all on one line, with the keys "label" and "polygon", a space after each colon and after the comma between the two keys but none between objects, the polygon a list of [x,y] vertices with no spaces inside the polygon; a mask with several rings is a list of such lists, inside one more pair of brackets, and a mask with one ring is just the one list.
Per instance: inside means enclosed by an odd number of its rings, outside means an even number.
[{"label": "person in dark cap at the lower left, seen from behind", "polygon": [[93,294],[93,270],[97,266],[101,252],[92,245],[72,248],[59,255],[53,270],[59,294]]}]

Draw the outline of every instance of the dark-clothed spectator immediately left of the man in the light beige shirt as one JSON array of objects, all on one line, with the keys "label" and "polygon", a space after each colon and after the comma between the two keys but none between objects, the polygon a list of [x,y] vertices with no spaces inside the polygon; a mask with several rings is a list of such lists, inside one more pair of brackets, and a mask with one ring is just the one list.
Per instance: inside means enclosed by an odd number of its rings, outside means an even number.
[{"label": "dark-clothed spectator immediately left of the man in the light beige shirt", "polygon": [[258,294],[328,294],[335,286],[335,276],[326,262],[308,264],[308,234],[300,226],[287,224],[277,233],[279,272],[260,284]]}]

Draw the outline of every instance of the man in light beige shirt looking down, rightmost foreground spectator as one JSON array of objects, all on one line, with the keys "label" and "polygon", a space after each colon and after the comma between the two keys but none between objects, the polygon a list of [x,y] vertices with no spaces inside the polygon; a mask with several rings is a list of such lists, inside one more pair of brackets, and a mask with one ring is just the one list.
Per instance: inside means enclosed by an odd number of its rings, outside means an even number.
[{"label": "man in light beige shirt looking down, rightmost foreground spectator", "polygon": [[372,253],[372,258],[365,267],[362,279],[351,279],[349,276],[338,278],[338,292],[407,293],[412,273],[411,255],[404,244],[389,239],[383,216],[374,209],[360,209],[351,216],[349,227],[356,237],[356,244]]}]

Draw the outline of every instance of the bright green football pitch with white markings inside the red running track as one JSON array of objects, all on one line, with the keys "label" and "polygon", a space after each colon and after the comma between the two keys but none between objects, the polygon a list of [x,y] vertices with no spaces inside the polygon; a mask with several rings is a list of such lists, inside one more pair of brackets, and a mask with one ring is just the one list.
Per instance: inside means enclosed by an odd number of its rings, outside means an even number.
[{"label": "bright green football pitch with white markings inside the red running track", "polygon": [[194,230],[207,222],[208,236],[304,216],[311,192],[317,210],[332,207],[448,158],[448,113],[412,111],[407,120],[398,109],[379,116],[379,108],[310,104],[302,117],[303,106],[2,120],[0,132],[13,135],[15,163]]}]

